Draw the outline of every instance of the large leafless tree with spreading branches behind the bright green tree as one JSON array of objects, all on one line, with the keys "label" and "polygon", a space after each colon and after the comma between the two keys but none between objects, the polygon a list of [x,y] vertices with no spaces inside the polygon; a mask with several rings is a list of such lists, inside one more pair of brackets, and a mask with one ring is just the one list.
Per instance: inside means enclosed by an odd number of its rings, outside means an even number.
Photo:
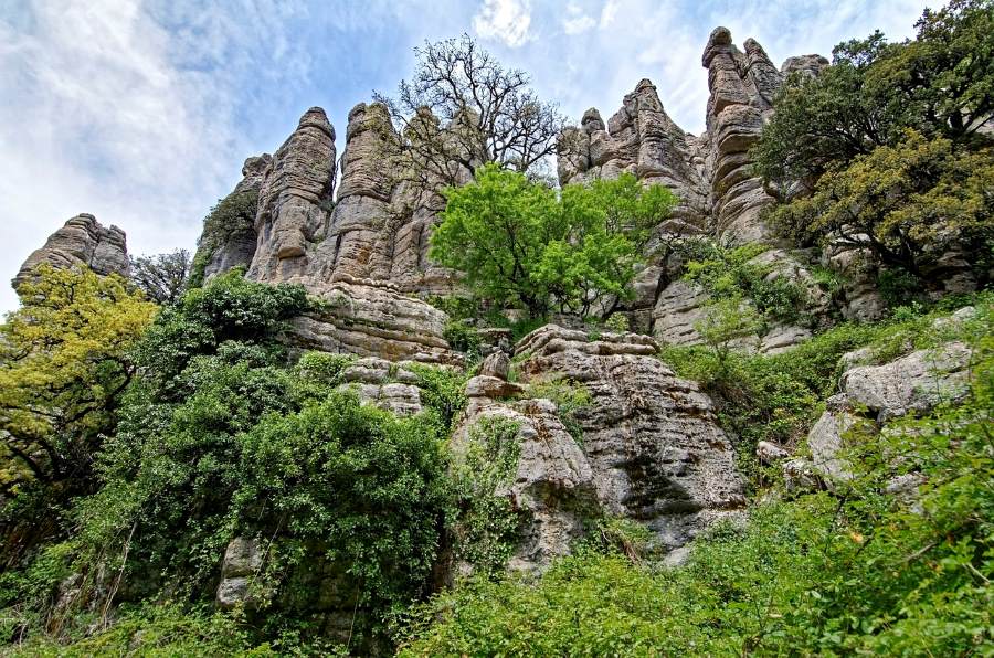
[{"label": "large leafless tree with spreading branches behind the bright green tree", "polygon": [[422,189],[466,182],[488,162],[531,172],[556,151],[564,119],[530,77],[505,68],[468,34],[414,49],[417,67],[396,98],[374,93],[401,135],[400,168]]}]

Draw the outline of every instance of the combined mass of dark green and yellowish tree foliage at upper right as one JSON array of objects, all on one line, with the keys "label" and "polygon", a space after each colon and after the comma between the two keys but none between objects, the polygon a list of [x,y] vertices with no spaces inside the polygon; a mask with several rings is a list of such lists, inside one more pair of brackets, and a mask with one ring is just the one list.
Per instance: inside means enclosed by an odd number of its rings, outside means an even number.
[{"label": "combined mass of dark green and yellowish tree foliage at upper right", "polygon": [[784,85],[753,149],[758,172],[790,201],[771,219],[786,235],[867,250],[921,277],[959,250],[994,244],[994,4],[926,10],[914,40],[840,44],[817,77]]}]

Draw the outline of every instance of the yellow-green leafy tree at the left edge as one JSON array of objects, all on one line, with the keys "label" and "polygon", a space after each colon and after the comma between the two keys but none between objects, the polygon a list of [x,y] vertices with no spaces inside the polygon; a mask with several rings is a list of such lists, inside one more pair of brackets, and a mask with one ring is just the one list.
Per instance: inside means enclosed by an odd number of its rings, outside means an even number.
[{"label": "yellow-green leafy tree at the left edge", "polygon": [[156,305],[118,276],[42,265],[0,326],[0,486],[85,488]]}]

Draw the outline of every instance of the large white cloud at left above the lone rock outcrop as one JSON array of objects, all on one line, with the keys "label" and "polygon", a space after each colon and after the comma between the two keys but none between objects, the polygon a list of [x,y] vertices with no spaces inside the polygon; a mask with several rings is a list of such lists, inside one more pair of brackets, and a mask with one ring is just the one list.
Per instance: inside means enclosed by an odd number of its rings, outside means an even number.
[{"label": "large white cloud at left above the lone rock outcrop", "polygon": [[204,192],[230,184],[232,100],[169,64],[169,35],[136,3],[30,11],[30,30],[0,20],[2,278],[80,212],[125,229],[133,253],[192,245]]}]

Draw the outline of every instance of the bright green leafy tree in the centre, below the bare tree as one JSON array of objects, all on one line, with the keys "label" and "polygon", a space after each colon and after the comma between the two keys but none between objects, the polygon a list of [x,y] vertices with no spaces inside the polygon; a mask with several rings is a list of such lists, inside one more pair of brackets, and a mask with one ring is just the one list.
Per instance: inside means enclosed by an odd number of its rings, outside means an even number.
[{"label": "bright green leafy tree in the centre, below the bare tree", "polygon": [[666,188],[631,174],[557,195],[496,166],[445,195],[432,257],[465,272],[478,296],[536,318],[551,309],[606,317],[631,298],[652,231],[675,203]]}]

